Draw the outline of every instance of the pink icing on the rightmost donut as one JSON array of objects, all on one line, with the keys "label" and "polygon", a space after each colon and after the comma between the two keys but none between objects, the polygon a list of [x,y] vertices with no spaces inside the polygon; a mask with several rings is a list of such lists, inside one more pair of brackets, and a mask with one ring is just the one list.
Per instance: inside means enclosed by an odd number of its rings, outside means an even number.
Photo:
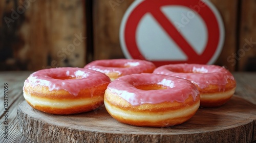
[{"label": "pink icing on the rightmost donut", "polygon": [[184,78],[201,89],[212,84],[218,85],[219,90],[224,91],[228,79],[235,82],[234,77],[226,68],[217,65],[169,64],[156,68],[153,73]]}]

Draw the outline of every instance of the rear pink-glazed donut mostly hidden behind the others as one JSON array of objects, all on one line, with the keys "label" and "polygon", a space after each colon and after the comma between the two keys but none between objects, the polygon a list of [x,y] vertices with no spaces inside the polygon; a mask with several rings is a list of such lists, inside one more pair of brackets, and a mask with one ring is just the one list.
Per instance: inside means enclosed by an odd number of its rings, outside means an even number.
[{"label": "rear pink-glazed donut mostly hidden behind the others", "polygon": [[156,66],[145,60],[135,59],[110,59],[110,60],[96,60],[84,68],[93,69],[104,73],[113,81],[124,75],[153,73]]}]

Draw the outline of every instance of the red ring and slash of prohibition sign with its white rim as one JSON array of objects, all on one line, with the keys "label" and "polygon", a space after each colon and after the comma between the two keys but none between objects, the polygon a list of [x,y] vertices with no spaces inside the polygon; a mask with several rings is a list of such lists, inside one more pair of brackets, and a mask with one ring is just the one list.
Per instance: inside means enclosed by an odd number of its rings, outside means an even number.
[{"label": "red ring and slash of prohibition sign with its white rim", "polygon": [[[140,51],[136,39],[136,30],[138,25],[145,16],[150,13],[154,19],[158,22],[162,29],[167,33],[169,38],[178,45],[180,50],[186,55],[186,60],[150,60],[155,63],[156,66],[174,63],[199,63],[199,64],[212,64],[218,58],[223,42],[224,42],[224,26],[216,8],[207,0],[201,1],[205,6],[201,7],[200,10],[196,11],[191,6],[197,6],[200,0],[189,0],[189,1],[170,1],[170,0],[137,0],[129,9],[127,9],[122,19],[120,27],[120,43],[122,51],[126,58],[129,59],[143,59],[148,60],[146,55]],[[166,15],[161,11],[164,6],[181,6],[198,14],[204,21],[207,30],[207,41],[203,52],[198,54],[193,46],[184,38],[179,32],[174,23],[170,21]],[[195,34],[196,35],[196,34]],[[152,35],[157,36],[157,35]],[[148,41],[150,42],[150,41]],[[156,47],[157,48],[157,47]],[[169,47],[172,48],[172,47]],[[151,50],[151,49],[148,49]]]}]

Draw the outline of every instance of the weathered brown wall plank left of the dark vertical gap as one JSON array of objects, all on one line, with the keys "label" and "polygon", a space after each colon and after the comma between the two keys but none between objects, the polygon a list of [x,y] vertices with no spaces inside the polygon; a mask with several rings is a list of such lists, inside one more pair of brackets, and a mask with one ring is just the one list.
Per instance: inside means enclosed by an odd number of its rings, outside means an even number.
[{"label": "weathered brown wall plank left of the dark vertical gap", "polygon": [[1,40],[9,42],[1,46],[11,51],[8,56],[15,70],[83,67],[86,63],[85,1],[12,0],[6,1],[5,13],[9,21],[4,19]]}]

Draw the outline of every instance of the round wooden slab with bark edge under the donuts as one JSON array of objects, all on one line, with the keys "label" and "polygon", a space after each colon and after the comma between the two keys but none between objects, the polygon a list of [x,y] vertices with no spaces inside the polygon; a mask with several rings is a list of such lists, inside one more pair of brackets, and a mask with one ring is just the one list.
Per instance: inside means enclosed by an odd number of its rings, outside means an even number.
[{"label": "round wooden slab with bark edge under the donuts", "polygon": [[26,101],[17,110],[19,130],[37,142],[252,142],[256,105],[233,96],[217,108],[200,108],[186,123],[167,128],[117,122],[104,107],[74,115],[51,115]]}]

